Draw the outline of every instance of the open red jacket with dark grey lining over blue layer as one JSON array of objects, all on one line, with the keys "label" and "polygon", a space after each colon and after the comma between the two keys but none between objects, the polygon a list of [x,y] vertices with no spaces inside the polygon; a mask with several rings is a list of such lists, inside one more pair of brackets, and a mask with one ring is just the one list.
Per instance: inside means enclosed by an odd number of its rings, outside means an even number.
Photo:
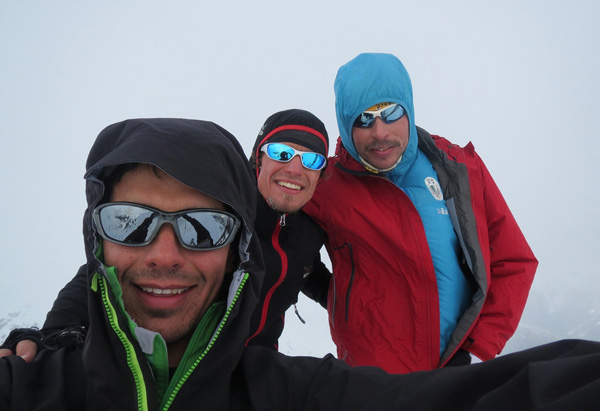
[{"label": "open red jacket with dark grey lining over blue layer", "polygon": [[443,366],[463,348],[487,360],[514,334],[537,260],[472,144],[419,129],[473,282],[473,301],[440,358],[436,278],[419,213],[402,190],[369,173],[338,142],[304,211],[327,232],[328,312],[338,357],[393,373]]}]

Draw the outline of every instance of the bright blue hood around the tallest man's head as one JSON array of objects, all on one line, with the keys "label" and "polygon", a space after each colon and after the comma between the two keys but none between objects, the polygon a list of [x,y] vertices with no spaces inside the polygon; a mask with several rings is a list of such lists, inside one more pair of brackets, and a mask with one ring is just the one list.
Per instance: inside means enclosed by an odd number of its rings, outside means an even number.
[{"label": "bright blue hood around the tallest man's head", "polygon": [[408,72],[391,54],[363,53],[338,70],[334,83],[335,111],[344,148],[358,162],[361,159],[352,141],[352,123],[360,113],[378,103],[398,103],[408,115],[410,137],[402,161],[387,173],[399,177],[410,167],[417,153],[417,128],[412,84]]}]

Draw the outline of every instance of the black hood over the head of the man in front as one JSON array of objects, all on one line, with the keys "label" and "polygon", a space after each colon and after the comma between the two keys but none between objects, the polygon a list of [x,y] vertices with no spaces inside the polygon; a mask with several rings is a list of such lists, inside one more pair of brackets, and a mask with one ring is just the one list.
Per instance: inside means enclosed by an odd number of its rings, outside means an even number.
[{"label": "black hood over the head of the man in front", "polygon": [[[90,215],[104,196],[104,180],[116,166],[127,163],[152,164],[229,205],[244,223],[241,235],[253,237],[256,184],[239,142],[219,125],[186,119],[133,119],[102,130],[86,163],[84,228],[92,227]],[[95,251],[95,233],[85,230],[85,234],[89,254]],[[247,263],[248,257],[240,260]]]}]

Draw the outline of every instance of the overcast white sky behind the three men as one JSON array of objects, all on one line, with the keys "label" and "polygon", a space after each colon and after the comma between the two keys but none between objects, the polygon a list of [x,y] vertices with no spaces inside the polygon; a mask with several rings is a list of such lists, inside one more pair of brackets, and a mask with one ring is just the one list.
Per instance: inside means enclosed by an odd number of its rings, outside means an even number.
[{"label": "overcast white sky behind the three men", "polygon": [[[28,307],[41,324],[84,262],[82,176],[102,128],[212,120],[249,154],[270,114],[303,108],[334,142],[337,69],[389,52],[417,124],[475,144],[540,260],[523,322],[566,336],[600,309],[599,39],[594,0],[0,0],[0,317]],[[282,350],[330,351],[325,311],[299,310],[314,320],[289,316]]]}]

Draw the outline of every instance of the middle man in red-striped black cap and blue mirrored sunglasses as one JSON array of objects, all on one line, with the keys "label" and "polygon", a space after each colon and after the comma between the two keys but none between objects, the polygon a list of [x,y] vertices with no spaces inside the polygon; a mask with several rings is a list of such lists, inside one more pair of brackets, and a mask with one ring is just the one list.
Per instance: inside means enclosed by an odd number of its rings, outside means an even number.
[{"label": "middle man in red-striped black cap and blue mirrored sunglasses", "polygon": [[[303,151],[302,158],[273,159],[274,151],[287,147]],[[269,150],[263,150],[269,148]],[[300,109],[284,110],[269,116],[252,149],[257,192],[255,228],[266,268],[260,304],[250,322],[248,345],[278,349],[287,309],[298,301],[298,293],[327,304],[330,273],[321,262],[319,250],[325,232],[300,209],[308,202],[325,169],[329,137],[325,125],[314,114]],[[296,156],[294,156],[296,157]],[[305,158],[316,158],[308,163]],[[302,165],[307,162],[309,166]],[[276,170],[262,172],[265,170]],[[312,167],[312,168],[310,168]],[[38,347],[60,346],[81,338],[88,326],[86,266],[60,291],[41,332],[19,329],[11,333],[0,349],[0,357],[16,352],[33,360]],[[42,343],[42,340],[44,342]],[[17,349],[17,343],[20,343]],[[8,350],[10,349],[10,351]]]}]

